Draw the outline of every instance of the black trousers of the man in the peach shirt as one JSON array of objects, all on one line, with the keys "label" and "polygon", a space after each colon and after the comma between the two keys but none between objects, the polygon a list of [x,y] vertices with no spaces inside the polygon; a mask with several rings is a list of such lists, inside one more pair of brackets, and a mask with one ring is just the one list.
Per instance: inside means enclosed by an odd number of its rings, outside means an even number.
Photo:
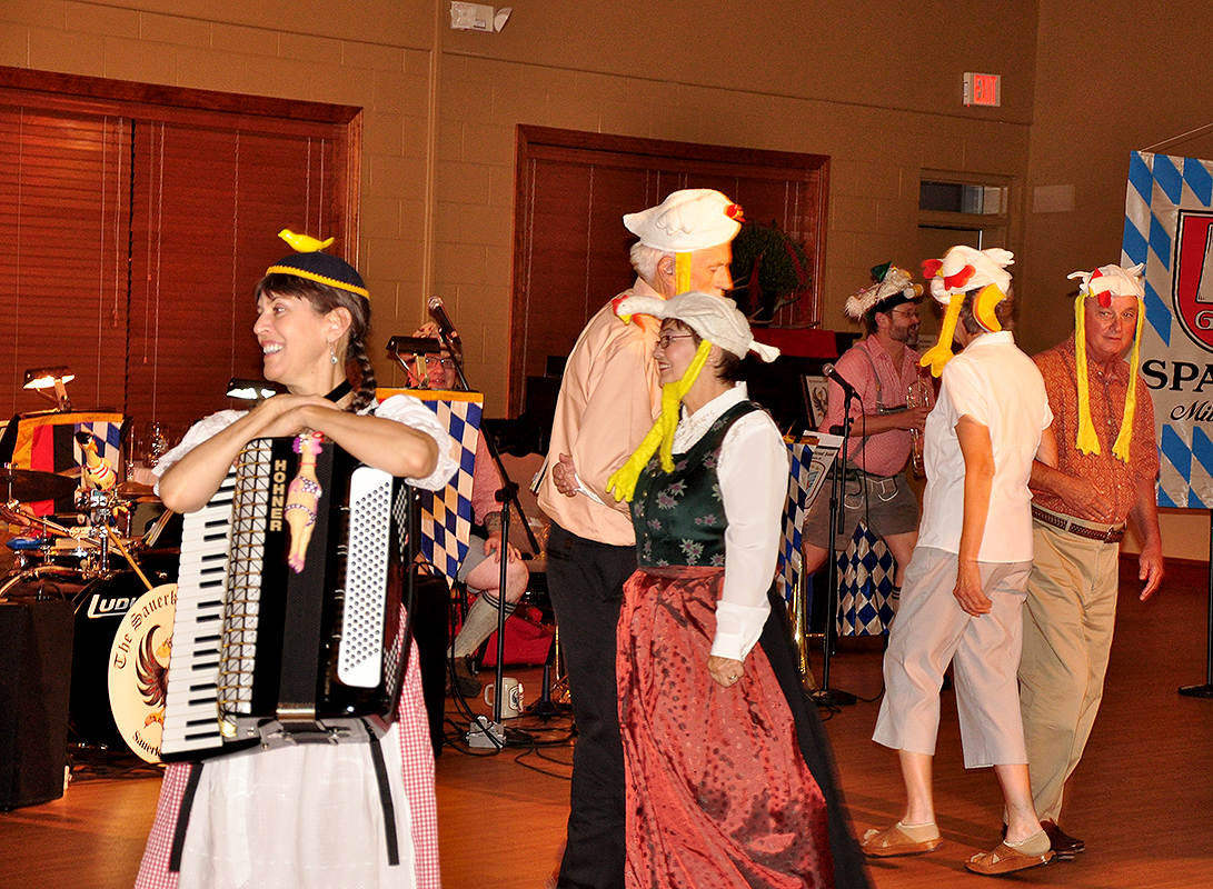
[{"label": "black trousers of the man in the peach shirt", "polygon": [[623,581],[634,570],[636,547],[598,543],[552,523],[547,586],[577,723],[560,889],[623,885],[626,809],[615,627]]}]

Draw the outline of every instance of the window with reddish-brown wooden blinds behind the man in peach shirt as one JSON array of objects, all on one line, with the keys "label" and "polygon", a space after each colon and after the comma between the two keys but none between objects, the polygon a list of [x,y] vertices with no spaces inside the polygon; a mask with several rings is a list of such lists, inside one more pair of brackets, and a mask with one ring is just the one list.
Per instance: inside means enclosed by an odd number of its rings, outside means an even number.
[{"label": "window with reddish-brown wooden blinds behind the man in peach shirt", "polygon": [[573,349],[586,321],[632,285],[636,240],[623,213],[660,204],[680,188],[714,188],[746,220],[775,223],[803,244],[811,280],[780,312],[780,326],[820,315],[828,158],[815,154],[518,127],[514,204],[509,412],[524,408],[529,376]]}]

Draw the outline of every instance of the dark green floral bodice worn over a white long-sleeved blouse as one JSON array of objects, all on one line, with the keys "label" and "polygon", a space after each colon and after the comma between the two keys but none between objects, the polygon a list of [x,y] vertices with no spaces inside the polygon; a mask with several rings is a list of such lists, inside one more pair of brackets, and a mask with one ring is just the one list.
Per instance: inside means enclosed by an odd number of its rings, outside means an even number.
[{"label": "dark green floral bodice worn over a white long-sleeved blouse", "polygon": [[729,408],[689,451],[673,455],[673,472],[661,469],[659,455],[644,467],[632,496],[632,525],[642,566],[724,566],[724,529],[729,522],[716,467],[729,427],[756,410],[761,408],[753,401]]}]

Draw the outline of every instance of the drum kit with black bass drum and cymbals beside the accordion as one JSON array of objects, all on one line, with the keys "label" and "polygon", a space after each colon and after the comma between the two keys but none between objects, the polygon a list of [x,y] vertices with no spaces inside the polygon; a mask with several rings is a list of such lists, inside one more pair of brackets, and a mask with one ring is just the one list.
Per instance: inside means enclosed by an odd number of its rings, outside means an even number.
[{"label": "drum kit with black bass drum and cymbals beside the accordion", "polygon": [[[143,537],[130,537],[135,506],[156,502],[152,489],[115,484],[113,468],[84,440],[91,437],[81,435],[80,486],[66,475],[0,467],[0,518],[24,535],[7,542],[15,566],[0,579],[0,600],[74,603],[68,717],[74,739],[130,747],[155,762],[163,712],[156,682],[171,646],[177,551],[154,547],[172,513],[164,512]],[[73,492],[75,526],[22,506]]]}]

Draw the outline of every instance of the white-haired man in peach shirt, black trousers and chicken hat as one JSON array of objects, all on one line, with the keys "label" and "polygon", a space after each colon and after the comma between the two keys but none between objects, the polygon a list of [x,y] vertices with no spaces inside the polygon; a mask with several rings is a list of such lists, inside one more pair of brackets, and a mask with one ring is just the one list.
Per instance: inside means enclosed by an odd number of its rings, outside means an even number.
[{"label": "white-haired man in peach shirt, black trousers and chicken hat", "polygon": [[[719,192],[684,189],[623,217],[639,237],[637,279],[626,296],[667,300],[731,289],[731,241],[741,207]],[[569,673],[577,743],[568,845],[559,887],[623,885],[623,750],[615,682],[615,625],[623,581],[636,570],[627,503],[606,479],[639,446],[660,414],[653,348],[659,324],[630,324],[606,303],[590,319],[564,370],[539,505],[552,519],[547,576]],[[571,492],[571,496],[562,494]]]}]

